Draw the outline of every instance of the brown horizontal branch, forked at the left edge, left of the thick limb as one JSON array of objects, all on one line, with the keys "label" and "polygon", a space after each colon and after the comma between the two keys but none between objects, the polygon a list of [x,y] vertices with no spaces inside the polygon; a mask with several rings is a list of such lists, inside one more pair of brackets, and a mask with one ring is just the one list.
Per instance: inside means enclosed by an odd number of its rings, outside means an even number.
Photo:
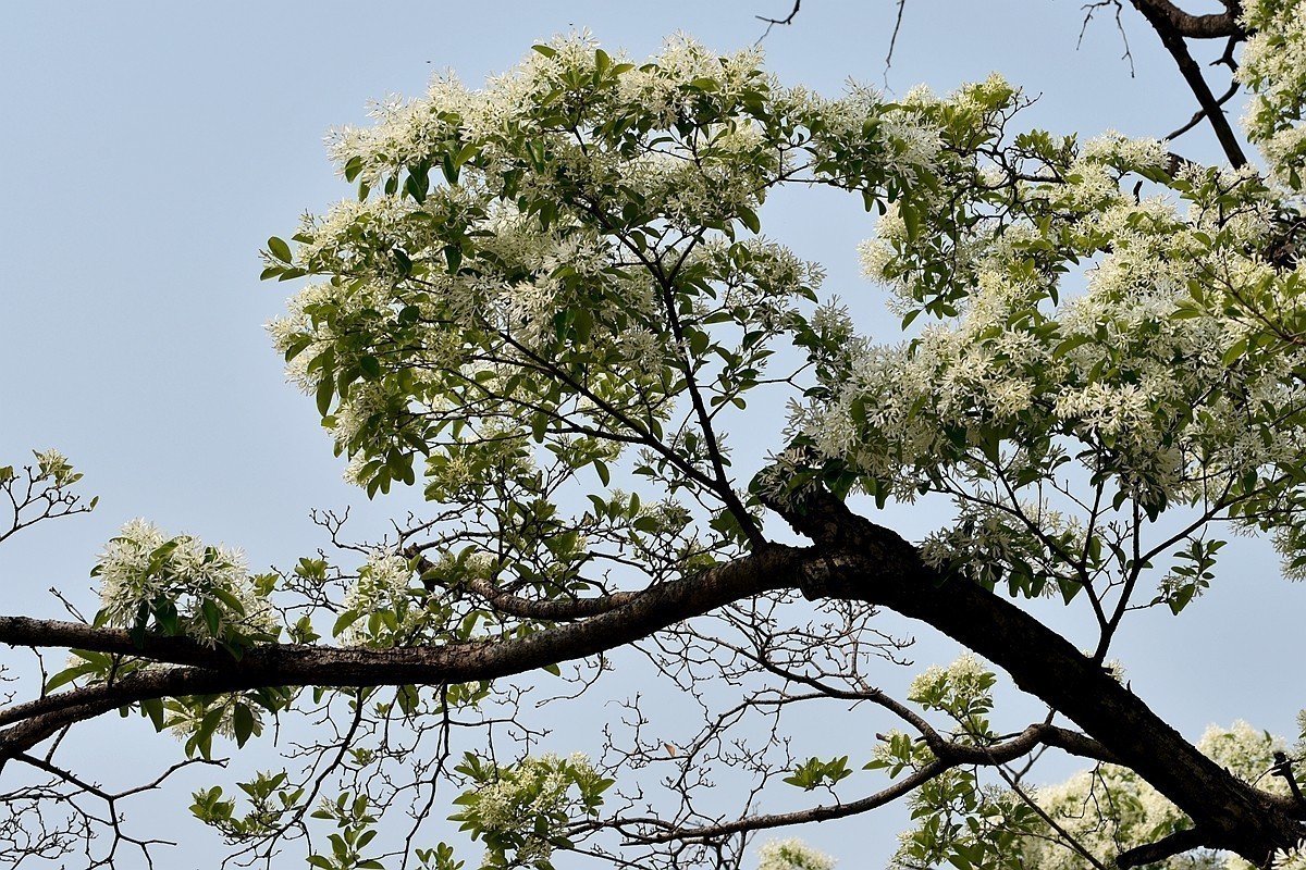
[{"label": "brown horizontal branch, forked at the left edge, left of the thick limb", "polygon": [[183,638],[146,637],[136,646],[127,631],[76,622],[0,618],[0,643],[72,647],[149,659],[157,667],[108,685],[47,695],[0,711],[0,759],[39,743],[67,724],[151,698],[206,695],[269,686],[449,685],[494,680],[584,659],[624,646],[720,607],[798,583],[804,550],[765,549],[713,567],[697,578],[654,586],[626,604],[582,622],[508,640],[440,647],[321,647],[268,644],[238,661]]}]

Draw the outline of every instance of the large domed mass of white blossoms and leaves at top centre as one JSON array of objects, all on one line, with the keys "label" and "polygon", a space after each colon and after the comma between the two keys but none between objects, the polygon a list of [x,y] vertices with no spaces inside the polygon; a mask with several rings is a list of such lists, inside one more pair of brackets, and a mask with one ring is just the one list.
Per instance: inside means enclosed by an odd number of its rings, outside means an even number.
[{"label": "large domed mass of white blossoms and leaves at top centre", "polygon": [[[781,89],[760,63],[756,48],[717,55],[677,35],[633,65],[573,34],[479,90],[438,77],[421,99],[374,106],[372,127],[330,136],[364,196],[306,218],[294,262],[268,254],[273,269],[329,277],[269,329],[293,357],[289,378],[323,403],[346,477],[385,484],[379,459],[410,450],[423,421],[469,404],[473,417],[516,419],[534,391],[552,410],[552,386],[534,373],[559,353],[582,357],[609,407],[669,416],[674,397],[661,393],[683,381],[666,377],[680,355],[656,282],[683,282],[675,292],[692,297],[692,316],[785,330],[820,270],[739,227],[756,230],[786,162],[850,155],[867,179],[841,184],[899,190],[947,159],[953,103],[989,112],[1010,91],[994,80],[887,107],[853,86],[823,100]],[[613,228],[628,220],[637,226]],[[838,321],[832,309],[818,316],[829,342],[853,338]],[[515,400],[496,403],[500,378],[516,378]],[[614,425],[610,413],[579,411]]]}]

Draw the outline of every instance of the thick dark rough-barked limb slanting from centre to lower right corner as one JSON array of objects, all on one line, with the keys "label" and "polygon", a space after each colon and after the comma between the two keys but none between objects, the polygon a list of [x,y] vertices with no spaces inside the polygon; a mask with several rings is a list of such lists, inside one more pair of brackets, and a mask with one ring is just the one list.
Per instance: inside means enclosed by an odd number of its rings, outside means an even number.
[{"label": "thick dark rough-barked limb slanting from centre to lower right corner", "polygon": [[1302,837],[1302,807],[1233,777],[1092,659],[1010,601],[970,583],[946,582],[897,533],[825,493],[789,519],[819,547],[827,544],[804,578],[808,596],[889,608],[1003,668],[1020,689],[1067,716],[1187,813],[1196,845],[1264,865],[1276,849]]}]

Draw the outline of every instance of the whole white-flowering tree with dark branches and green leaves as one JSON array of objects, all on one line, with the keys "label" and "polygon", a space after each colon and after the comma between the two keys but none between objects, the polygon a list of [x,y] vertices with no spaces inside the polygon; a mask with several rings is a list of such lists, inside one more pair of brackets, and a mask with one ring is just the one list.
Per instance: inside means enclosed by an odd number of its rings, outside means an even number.
[{"label": "whole white-flowering tree with dark branches and green leaves", "polygon": [[[178,767],[273,723],[319,725],[239,801],[195,794],[238,861],[307,836],[312,866],[449,870],[460,858],[422,827],[441,784],[461,789],[453,819],[485,866],[560,850],[738,866],[754,832],[908,794],[921,824],[901,866],[1213,860],[1202,850],[1269,866],[1294,849],[1301,749],[1245,727],[1199,749],[1107,656],[1126,616],[1179,613],[1215,579],[1221,528],[1269,533],[1289,574],[1306,566],[1306,17],[1135,5],[1229,168],[1158,141],[1016,132],[1025,99],[998,77],[827,99],[773,81],[755,50],[687,39],[644,64],[558,39],[482,91],[436,78],[341,132],[358,197],[269,241],[265,278],[313,282],[273,333],[349,475],[374,497],[421,477],[430,513],[380,545],[324,515],[340,554],[281,575],[135,523],[97,563],[94,618],[0,618],[0,640],[71,652],[0,711],[5,772],[34,777],[4,796],[9,861],[97,830],[111,844],[94,860],[148,852],[119,823],[128,794],[57,762],[65,729],[115,710],[182,734]],[[1226,39],[1230,63],[1242,44],[1266,171],[1191,76],[1200,38]],[[820,267],[761,235],[781,185],[878,213],[866,270],[901,343],[862,335]],[[726,443],[784,402],[774,453]],[[3,471],[13,531],[80,505],[57,454]],[[919,545],[874,522],[871,503],[917,498],[953,503]],[[1087,609],[1096,647],[1036,618],[1043,596]],[[1047,716],[996,732],[995,678],[969,657],[905,699],[880,691],[868,660],[897,651],[880,609],[970,648]],[[547,670],[579,694],[614,665],[690,694],[701,728],[663,742],[635,700],[629,742],[532,753],[522,686]],[[853,704],[902,730],[852,766],[790,757],[791,711]],[[1049,747],[1098,767],[1038,797]],[[677,770],[665,788],[654,762]],[[862,764],[891,781],[850,800]],[[725,809],[718,776],[742,796]],[[773,811],[799,793],[785,784],[837,800]],[[401,809],[407,836],[374,841]],[[764,861],[821,865],[791,843]]]}]

